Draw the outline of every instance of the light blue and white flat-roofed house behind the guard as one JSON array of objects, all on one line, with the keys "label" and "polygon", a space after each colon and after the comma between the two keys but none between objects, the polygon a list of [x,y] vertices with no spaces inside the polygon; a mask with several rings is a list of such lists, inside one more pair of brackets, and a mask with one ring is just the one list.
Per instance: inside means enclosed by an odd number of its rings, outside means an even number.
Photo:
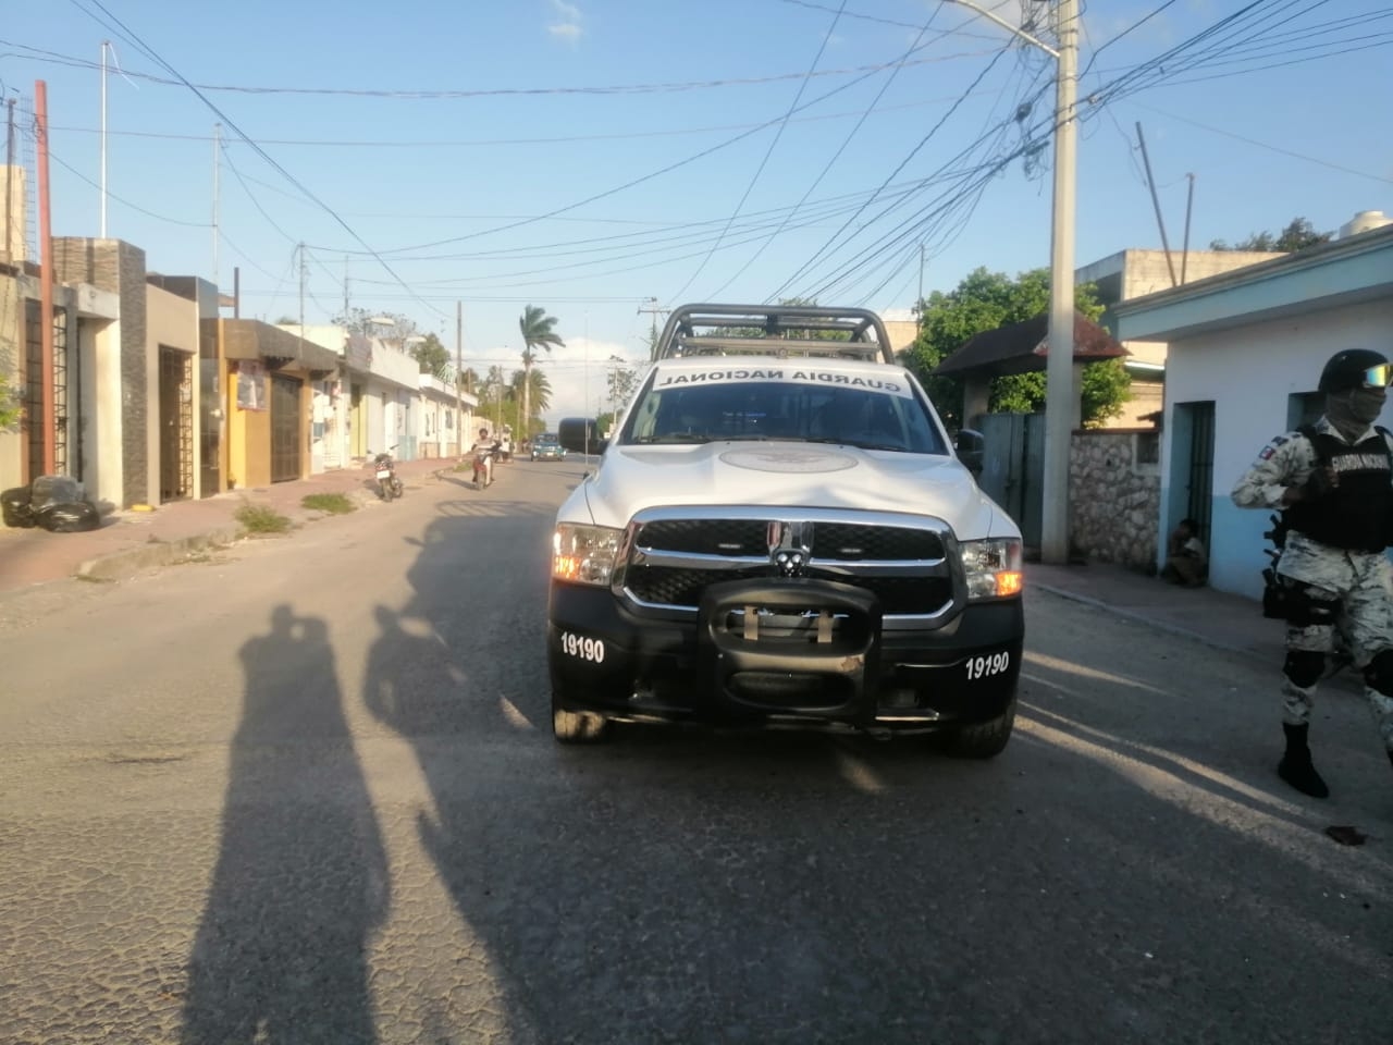
[{"label": "light blue and white flat-roofed house behind the guard", "polygon": [[1393,224],[1357,231],[1368,224],[1113,309],[1124,343],[1169,346],[1158,543],[1195,518],[1215,588],[1262,592],[1268,513],[1229,493],[1268,439],[1321,414],[1325,361],[1343,348],[1393,355]]}]

